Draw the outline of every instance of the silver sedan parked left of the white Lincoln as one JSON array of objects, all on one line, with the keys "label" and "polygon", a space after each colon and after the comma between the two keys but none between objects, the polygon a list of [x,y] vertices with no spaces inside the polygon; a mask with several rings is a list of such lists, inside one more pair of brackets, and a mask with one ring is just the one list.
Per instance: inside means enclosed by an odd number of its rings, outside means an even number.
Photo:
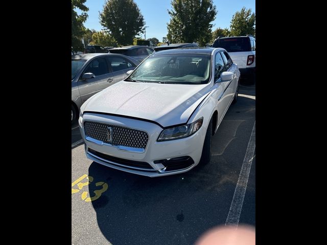
[{"label": "silver sedan parked left of the white Lincoln", "polygon": [[82,54],[72,56],[72,124],[81,105],[92,95],[128,75],[139,62],[120,54]]}]

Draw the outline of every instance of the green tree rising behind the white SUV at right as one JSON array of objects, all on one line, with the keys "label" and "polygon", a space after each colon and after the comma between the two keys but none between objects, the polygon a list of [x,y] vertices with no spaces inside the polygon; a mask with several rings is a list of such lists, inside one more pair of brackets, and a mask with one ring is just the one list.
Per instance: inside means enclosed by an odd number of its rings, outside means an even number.
[{"label": "green tree rising behind the white SUV at right", "polygon": [[255,35],[255,14],[251,12],[251,9],[243,7],[233,15],[230,21],[231,36]]}]

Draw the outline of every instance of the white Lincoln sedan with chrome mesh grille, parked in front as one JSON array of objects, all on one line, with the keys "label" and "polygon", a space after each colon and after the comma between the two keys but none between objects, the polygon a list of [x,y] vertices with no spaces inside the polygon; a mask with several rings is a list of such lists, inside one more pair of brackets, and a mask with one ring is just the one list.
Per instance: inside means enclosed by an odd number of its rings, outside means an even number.
[{"label": "white Lincoln sedan with chrome mesh grille, parked in front", "polygon": [[228,53],[161,51],[128,73],[81,107],[87,158],[149,177],[210,161],[211,138],[238,96],[240,71]]}]

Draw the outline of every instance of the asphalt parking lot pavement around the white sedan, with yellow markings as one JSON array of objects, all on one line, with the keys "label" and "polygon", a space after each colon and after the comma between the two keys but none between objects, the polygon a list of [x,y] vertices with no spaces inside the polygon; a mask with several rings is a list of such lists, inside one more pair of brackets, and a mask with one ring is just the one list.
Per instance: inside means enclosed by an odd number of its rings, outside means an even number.
[{"label": "asphalt parking lot pavement around the white sedan, with yellow markings", "polygon": [[[241,85],[238,102],[213,136],[212,161],[184,174],[148,178],[92,162],[76,127],[72,244],[194,244],[231,213],[238,214],[239,224],[255,226],[254,85]],[[239,213],[231,210],[232,203]]]}]

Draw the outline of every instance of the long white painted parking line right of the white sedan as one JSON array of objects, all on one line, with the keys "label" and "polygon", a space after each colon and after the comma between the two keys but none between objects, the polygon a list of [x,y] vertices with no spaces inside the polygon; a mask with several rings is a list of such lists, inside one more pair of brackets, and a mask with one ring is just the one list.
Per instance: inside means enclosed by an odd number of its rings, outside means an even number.
[{"label": "long white painted parking line right of the white sedan", "polygon": [[225,225],[238,226],[255,150],[255,121]]}]

